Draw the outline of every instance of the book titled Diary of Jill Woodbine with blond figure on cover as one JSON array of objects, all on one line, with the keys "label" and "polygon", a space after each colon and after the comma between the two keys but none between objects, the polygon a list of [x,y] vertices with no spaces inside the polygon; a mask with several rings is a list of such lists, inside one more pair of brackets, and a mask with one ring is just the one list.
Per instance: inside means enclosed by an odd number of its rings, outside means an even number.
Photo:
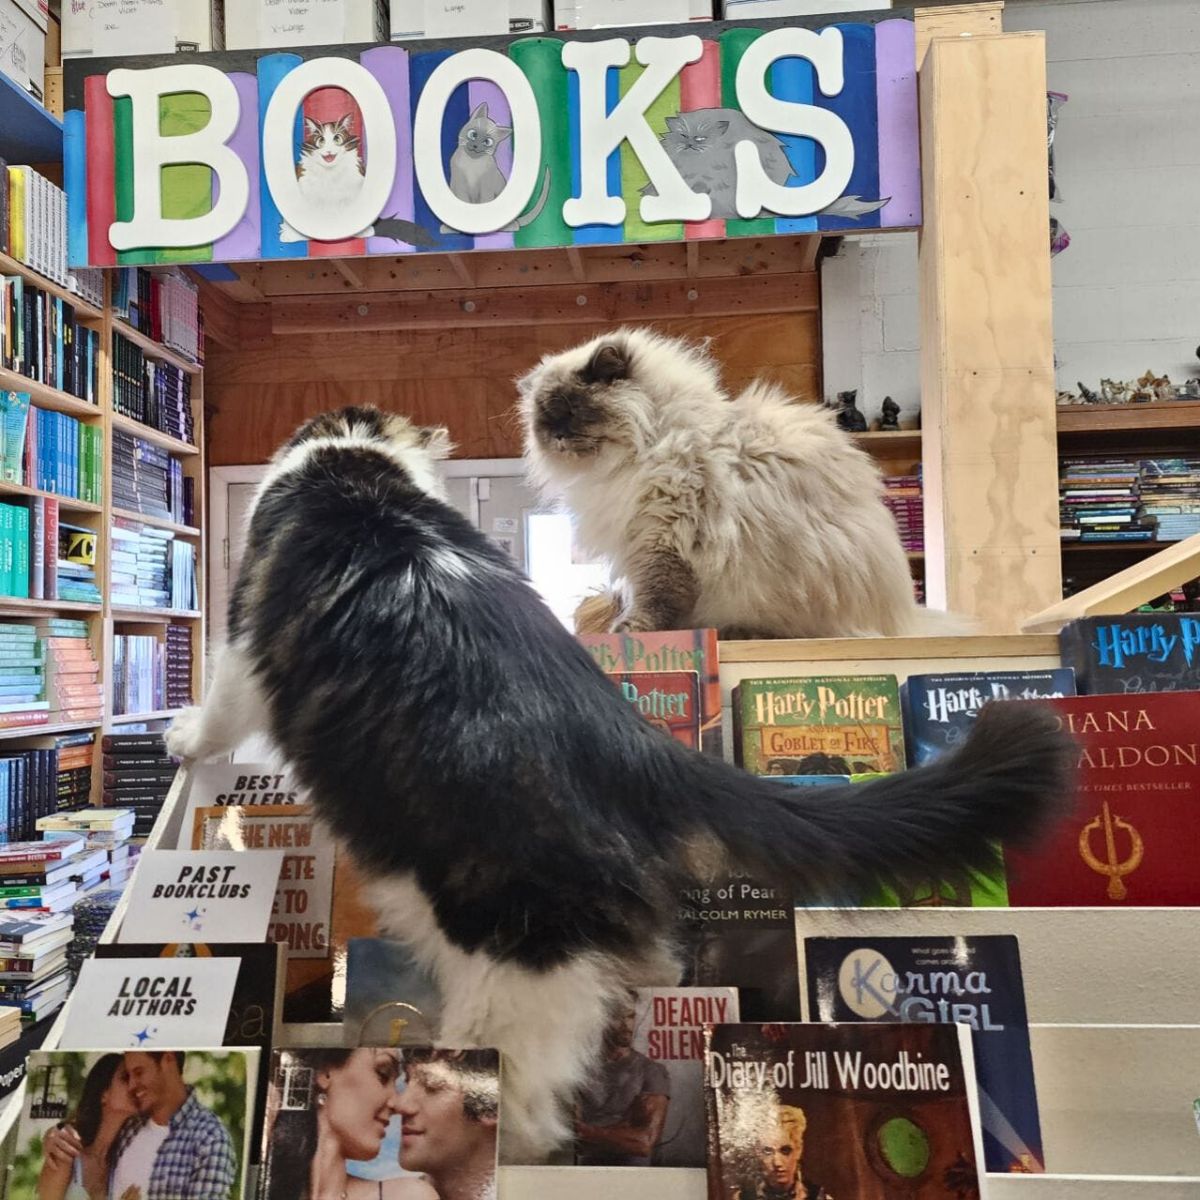
[{"label": "book titled Diary of Jill Woodbine with blond figure on cover", "polygon": [[709,1200],[983,1195],[959,1025],[718,1025],[707,1034]]}]

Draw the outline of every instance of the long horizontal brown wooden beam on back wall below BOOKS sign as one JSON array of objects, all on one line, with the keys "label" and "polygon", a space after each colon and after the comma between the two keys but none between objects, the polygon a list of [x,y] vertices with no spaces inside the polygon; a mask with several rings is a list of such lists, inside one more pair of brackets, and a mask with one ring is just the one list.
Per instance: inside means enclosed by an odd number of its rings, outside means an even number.
[{"label": "long horizontal brown wooden beam on back wall below BOOKS sign", "polygon": [[536,324],[594,325],[676,317],[815,312],[816,275],[755,280],[690,280],[670,283],[584,283],[526,292],[490,288],[446,295],[361,295],[350,299],[278,300],[271,305],[275,334],[347,329],[524,328]]}]

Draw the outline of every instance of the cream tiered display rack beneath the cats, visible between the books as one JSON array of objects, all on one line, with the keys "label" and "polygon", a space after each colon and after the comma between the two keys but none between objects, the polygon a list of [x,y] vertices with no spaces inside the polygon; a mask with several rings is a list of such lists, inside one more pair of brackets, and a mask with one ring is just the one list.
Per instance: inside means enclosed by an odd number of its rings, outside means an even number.
[{"label": "cream tiered display rack beneath the cats, visible between the books", "polygon": [[[762,674],[1044,668],[1051,636],[726,642],[726,706]],[[726,707],[726,719],[728,712]],[[149,847],[173,848],[181,772]],[[114,941],[125,901],[103,941]],[[1200,912],[1194,908],[798,908],[797,936],[1015,934],[1050,1174],[992,1175],[991,1200],[1195,1200],[1200,1195]],[[802,943],[803,944],[803,943]],[[47,1048],[61,1027],[55,1022]],[[289,1025],[280,1045],[341,1045],[341,1025]],[[20,1096],[18,1091],[16,1097]],[[11,1146],[19,1100],[0,1111]],[[666,1168],[502,1168],[504,1200],[704,1200],[704,1172]],[[17,1200],[17,1198],[12,1198]],[[26,1198],[20,1198],[26,1200]]]}]

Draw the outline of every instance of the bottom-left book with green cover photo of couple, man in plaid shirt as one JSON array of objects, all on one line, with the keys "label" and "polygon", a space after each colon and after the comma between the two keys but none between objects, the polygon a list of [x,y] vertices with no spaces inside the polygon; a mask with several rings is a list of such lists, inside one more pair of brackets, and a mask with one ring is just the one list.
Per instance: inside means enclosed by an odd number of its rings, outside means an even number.
[{"label": "bottom-left book with green cover photo of couple, man in plaid shirt", "polygon": [[[8,1187],[12,1195],[62,1195],[71,1168],[55,1169],[46,1135],[68,1124],[86,1150],[112,1136],[109,1194],[247,1198],[246,1166],[259,1054],[253,1049],[37,1050],[20,1105]],[[175,1096],[186,1088],[186,1099]],[[167,1126],[161,1145],[154,1127]],[[156,1153],[155,1153],[156,1148]],[[140,1150],[140,1152],[139,1152]],[[162,1156],[164,1165],[156,1158]],[[169,1168],[166,1162],[169,1160]],[[157,1169],[156,1169],[157,1168]],[[80,1188],[82,1186],[74,1184]],[[186,1190],[185,1190],[186,1189]],[[102,1187],[103,1190],[103,1187]]]}]

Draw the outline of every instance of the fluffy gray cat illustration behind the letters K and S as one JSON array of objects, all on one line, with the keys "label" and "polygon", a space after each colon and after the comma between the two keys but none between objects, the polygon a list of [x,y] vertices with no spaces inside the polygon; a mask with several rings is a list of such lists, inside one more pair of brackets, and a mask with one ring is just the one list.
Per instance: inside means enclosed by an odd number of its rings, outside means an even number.
[{"label": "fluffy gray cat illustration behind the letters K and S", "polygon": [[[738,168],[733,148],[750,142],[758,151],[758,161],[773,184],[786,184],[792,178],[784,143],[752,125],[736,108],[696,108],[666,119],[667,131],[659,140],[683,181],[694,191],[709,196],[713,202],[712,220],[736,220]],[[656,196],[653,184],[642,188],[643,196]],[[857,220],[875,212],[887,199],[864,200],[858,196],[839,197],[821,210],[821,216]]]}]

